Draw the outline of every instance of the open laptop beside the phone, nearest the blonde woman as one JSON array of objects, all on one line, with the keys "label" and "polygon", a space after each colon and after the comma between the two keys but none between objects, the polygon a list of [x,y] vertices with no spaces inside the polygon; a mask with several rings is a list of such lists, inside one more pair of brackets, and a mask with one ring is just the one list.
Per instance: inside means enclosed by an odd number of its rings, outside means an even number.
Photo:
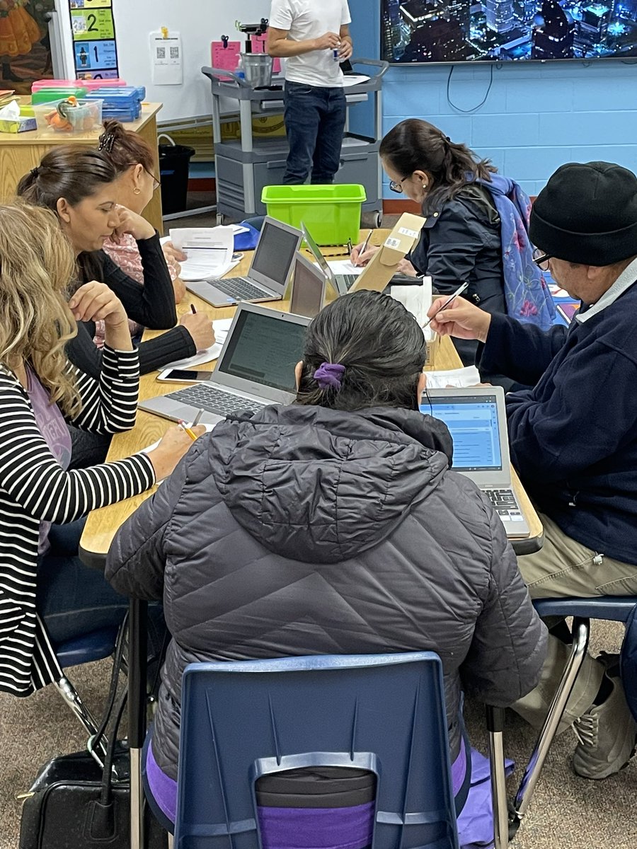
[{"label": "open laptop beside the phone, nearest the blonde woman", "polygon": [[200,409],[203,424],[217,424],[229,413],[296,397],[294,368],[303,358],[309,318],[241,303],[211,380],[169,395],[140,401],[138,407],[172,421],[193,421]]}]

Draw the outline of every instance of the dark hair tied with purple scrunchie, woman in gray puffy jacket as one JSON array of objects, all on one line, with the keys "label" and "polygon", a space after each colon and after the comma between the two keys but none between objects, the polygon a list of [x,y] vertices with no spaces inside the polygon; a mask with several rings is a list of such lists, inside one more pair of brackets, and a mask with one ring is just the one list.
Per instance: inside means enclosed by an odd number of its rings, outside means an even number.
[{"label": "dark hair tied with purple scrunchie, woman in gray puffy jacket", "polygon": [[[309,324],[296,403],[347,411],[416,409],[425,360],[425,336],[403,304],[380,292],[352,292]],[[323,363],[345,367],[340,389],[321,389],[314,379]]]}]

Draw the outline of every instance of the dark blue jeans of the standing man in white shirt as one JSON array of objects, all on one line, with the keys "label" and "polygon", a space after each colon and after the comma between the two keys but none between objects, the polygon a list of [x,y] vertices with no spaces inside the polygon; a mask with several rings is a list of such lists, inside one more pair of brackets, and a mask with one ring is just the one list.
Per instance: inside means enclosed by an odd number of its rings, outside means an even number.
[{"label": "dark blue jeans of the standing man in white shirt", "polygon": [[310,173],[312,183],[332,183],[341,164],[345,92],[286,82],[284,99],[290,145],[284,184],[301,185]]}]

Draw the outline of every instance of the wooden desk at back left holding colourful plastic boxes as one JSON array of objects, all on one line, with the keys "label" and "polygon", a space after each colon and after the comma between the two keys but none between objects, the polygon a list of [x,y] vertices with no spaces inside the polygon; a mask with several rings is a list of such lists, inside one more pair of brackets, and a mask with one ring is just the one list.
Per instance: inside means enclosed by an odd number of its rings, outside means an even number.
[{"label": "wooden desk at back left holding colourful plastic boxes", "polygon": [[[30,104],[31,98],[18,98],[21,104]],[[157,113],[162,104],[144,104],[142,115],[137,121],[124,125],[127,130],[137,132],[148,142],[155,160],[155,174],[159,175],[159,149],[157,146]],[[31,168],[40,164],[42,157],[60,144],[77,144],[84,148],[96,148],[101,129],[91,132],[66,134],[53,130],[28,130],[27,132],[0,132],[0,203],[6,203],[15,195],[15,189]],[[161,219],[161,192],[153,194],[144,210],[144,218],[160,233],[163,233]]]}]

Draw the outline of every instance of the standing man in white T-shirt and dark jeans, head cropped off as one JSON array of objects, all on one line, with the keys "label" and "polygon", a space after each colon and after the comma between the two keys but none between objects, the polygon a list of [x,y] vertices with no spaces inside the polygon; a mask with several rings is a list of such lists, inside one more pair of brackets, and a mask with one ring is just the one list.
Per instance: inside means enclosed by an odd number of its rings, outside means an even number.
[{"label": "standing man in white T-shirt and dark jeans, head cropped off", "polygon": [[341,161],[345,92],[341,62],[352,55],[347,0],[272,0],[268,53],[285,62],[287,185],[332,183]]}]

